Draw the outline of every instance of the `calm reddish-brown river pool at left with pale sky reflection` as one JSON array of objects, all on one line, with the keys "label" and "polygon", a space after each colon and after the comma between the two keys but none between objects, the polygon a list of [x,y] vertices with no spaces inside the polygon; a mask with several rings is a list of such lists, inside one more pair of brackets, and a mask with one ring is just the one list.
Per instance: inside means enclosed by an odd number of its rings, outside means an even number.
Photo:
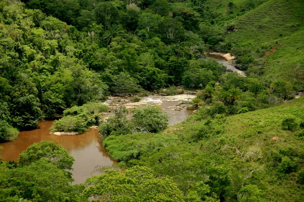
[{"label": "calm reddish-brown river pool at left with pale sky reflection", "polygon": [[96,166],[111,166],[116,163],[103,148],[97,134],[97,130],[89,130],[80,135],[57,136],[49,133],[52,121],[39,122],[39,129],[22,131],[13,142],[1,143],[3,160],[17,161],[19,154],[34,142],[50,140],[63,146],[74,159],[73,178],[74,183],[83,183],[92,175]]}]

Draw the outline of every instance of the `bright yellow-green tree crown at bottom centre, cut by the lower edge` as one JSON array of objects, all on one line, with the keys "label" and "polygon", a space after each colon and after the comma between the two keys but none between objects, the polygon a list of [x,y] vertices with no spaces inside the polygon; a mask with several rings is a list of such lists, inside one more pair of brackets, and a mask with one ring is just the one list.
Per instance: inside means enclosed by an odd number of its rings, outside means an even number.
[{"label": "bright yellow-green tree crown at bottom centre, cut by the lower edge", "polygon": [[184,201],[182,192],[169,178],[157,178],[145,167],[135,166],[125,172],[106,170],[86,181],[85,194],[94,201]]}]

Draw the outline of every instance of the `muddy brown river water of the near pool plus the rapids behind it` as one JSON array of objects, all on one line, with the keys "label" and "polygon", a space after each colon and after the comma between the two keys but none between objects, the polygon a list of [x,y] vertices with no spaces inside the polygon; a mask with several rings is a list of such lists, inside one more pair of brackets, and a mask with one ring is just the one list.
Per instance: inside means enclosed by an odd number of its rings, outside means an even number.
[{"label": "muddy brown river water of the near pool plus the rapids behind it", "polygon": [[[191,100],[195,95],[176,95],[176,96],[158,96],[152,95],[144,97],[142,103],[160,106],[170,117],[169,124],[173,125],[186,120],[192,110],[170,110],[181,101]],[[120,99],[120,97],[112,97]],[[132,110],[132,109],[130,109]],[[50,134],[49,128],[53,121],[40,121],[39,129],[30,131],[21,131],[15,141],[0,143],[4,148],[1,150],[3,160],[17,161],[19,155],[29,145],[42,140],[50,140],[63,146],[75,161],[73,164],[74,183],[84,183],[86,178],[94,174],[95,169],[103,166],[111,166],[117,161],[111,159],[105,148],[99,140],[97,130],[90,129],[80,135],[61,135]]]}]

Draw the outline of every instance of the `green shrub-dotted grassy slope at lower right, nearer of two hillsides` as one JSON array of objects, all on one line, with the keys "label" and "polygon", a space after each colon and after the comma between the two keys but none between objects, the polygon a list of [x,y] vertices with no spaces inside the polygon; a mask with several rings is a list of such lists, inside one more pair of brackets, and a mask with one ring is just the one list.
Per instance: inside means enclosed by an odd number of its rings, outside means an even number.
[{"label": "green shrub-dotted grassy slope at lower right, nearer of two hillsides", "polygon": [[[282,128],[288,115],[297,118],[294,131]],[[110,136],[103,142],[113,158],[168,175],[185,194],[203,181],[221,200],[304,200],[304,141],[295,135],[302,131],[304,97],[230,117],[196,118],[160,134]]]}]

